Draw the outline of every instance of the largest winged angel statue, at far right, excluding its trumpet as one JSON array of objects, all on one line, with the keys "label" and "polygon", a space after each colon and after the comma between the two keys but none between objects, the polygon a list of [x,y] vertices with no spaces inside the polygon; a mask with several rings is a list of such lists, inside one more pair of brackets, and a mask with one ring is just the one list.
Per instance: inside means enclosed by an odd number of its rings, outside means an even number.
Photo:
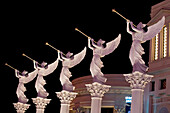
[{"label": "largest winged angel statue, at far right, excluding its trumpet", "polygon": [[[133,31],[129,29],[129,23]],[[137,25],[137,28],[133,26],[133,23],[127,20],[127,32],[132,35],[132,45],[129,53],[129,58],[131,64],[133,66],[133,72],[139,71],[141,73],[146,73],[148,71],[148,67],[145,65],[145,62],[142,59],[142,55],[145,54],[144,48],[141,43],[146,42],[147,40],[151,40],[158,34],[163,28],[165,23],[165,17],[162,17],[156,24],[147,27],[147,31],[145,31],[146,24],[142,24],[140,22]]]}]

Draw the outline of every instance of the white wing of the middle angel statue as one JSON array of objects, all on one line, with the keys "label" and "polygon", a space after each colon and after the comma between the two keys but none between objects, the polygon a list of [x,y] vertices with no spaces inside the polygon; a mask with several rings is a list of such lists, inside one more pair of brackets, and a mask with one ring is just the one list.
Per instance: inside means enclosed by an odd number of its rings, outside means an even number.
[{"label": "white wing of the middle angel statue", "polygon": [[87,48],[85,47],[80,53],[74,55],[74,59],[73,60],[69,60],[69,68],[74,67],[75,65],[79,64],[85,57],[86,55],[86,50]]}]

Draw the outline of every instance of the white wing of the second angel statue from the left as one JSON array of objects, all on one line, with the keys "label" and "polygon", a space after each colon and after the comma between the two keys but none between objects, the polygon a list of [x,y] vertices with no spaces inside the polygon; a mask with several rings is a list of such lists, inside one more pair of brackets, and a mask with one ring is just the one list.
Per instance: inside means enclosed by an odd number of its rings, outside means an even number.
[{"label": "white wing of the second angel statue from the left", "polygon": [[55,62],[51,63],[48,65],[48,68],[43,70],[43,76],[46,76],[46,75],[49,75],[51,74],[52,72],[54,72],[54,70],[57,68],[58,66],[58,58]]}]

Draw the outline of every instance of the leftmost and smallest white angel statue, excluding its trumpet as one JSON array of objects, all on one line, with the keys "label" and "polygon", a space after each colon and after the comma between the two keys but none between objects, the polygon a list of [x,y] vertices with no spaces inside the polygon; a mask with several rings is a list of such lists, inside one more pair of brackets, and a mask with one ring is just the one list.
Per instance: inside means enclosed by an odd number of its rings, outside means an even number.
[{"label": "leftmost and smallest white angel statue, excluding its trumpet", "polygon": [[31,82],[36,77],[37,73],[38,73],[38,69],[35,69],[31,73],[28,73],[27,71],[23,71],[21,74],[19,73],[18,70],[15,70],[15,75],[17,78],[19,78],[19,84],[16,91],[18,102],[24,104],[28,102],[28,99],[24,94],[24,92],[26,91],[24,84]]}]

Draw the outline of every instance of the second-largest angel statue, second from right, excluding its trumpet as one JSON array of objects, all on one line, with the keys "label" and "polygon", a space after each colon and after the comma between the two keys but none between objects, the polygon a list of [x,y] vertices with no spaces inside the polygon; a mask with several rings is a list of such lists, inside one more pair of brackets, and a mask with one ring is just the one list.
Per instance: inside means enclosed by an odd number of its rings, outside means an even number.
[{"label": "second-largest angel statue, second from right, excluding its trumpet", "polygon": [[[88,38],[88,47],[93,50],[93,58],[90,64],[90,72],[92,74],[94,82],[98,82],[101,84],[106,82],[107,79],[101,72],[101,68],[104,67],[104,65],[100,58],[112,53],[118,47],[120,40],[121,35],[119,34],[116,39],[108,42],[106,44],[106,47],[104,48],[103,44],[105,43],[105,41],[103,41],[102,39],[100,39],[97,44],[95,44],[93,39]],[[92,41],[92,46],[90,41]]]}]

